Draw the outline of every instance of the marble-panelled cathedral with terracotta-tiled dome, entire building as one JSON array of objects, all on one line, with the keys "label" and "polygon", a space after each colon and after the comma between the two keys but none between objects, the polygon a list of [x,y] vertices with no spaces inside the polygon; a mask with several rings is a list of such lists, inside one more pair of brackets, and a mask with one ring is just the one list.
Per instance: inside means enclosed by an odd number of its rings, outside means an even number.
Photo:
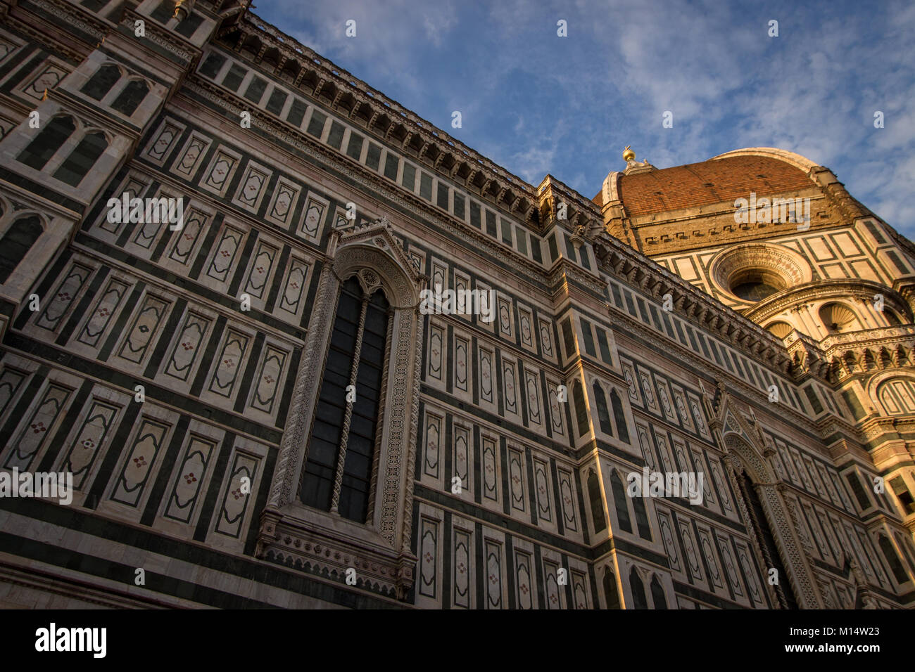
[{"label": "marble-panelled cathedral with terracotta-tiled dome, entire building", "polygon": [[0,0],[0,606],[915,605],[910,241],[527,184],[246,5]]}]

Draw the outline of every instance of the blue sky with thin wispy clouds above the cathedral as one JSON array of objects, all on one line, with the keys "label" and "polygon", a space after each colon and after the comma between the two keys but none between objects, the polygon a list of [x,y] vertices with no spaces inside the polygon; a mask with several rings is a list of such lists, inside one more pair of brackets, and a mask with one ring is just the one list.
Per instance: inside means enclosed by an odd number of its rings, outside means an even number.
[{"label": "blue sky with thin wispy clouds above the cathedral", "polygon": [[659,168],[773,146],[832,168],[915,239],[915,3],[800,5],[260,0],[253,12],[533,185],[550,173],[593,197],[627,144]]}]

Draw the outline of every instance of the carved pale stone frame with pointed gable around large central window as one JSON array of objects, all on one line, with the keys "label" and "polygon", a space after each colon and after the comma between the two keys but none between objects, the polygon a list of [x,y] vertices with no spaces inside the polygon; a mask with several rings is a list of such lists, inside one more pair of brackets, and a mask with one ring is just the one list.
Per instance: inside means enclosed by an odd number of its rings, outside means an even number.
[{"label": "carved pale stone frame with pointed gable around large central window", "polygon": [[[369,510],[373,513],[365,524],[307,507],[298,497],[339,287],[360,272],[377,278],[393,310],[380,409],[383,425],[372,473]],[[356,586],[397,599],[406,596],[416,562],[410,545],[423,344],[419,299],[427,282],[394,238],[387,219],[331,231],[303,364],[261,513],[259,558],[337,581],[355,569]]]}]

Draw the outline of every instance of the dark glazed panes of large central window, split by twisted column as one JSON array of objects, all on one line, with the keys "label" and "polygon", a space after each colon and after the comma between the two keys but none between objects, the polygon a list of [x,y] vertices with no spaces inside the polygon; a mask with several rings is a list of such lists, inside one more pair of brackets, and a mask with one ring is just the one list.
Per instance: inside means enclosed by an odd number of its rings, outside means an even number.
[{"label": "dark glazed panes of large central window, split by twisted column", "polygon": [[343,283],[302,477],[305,504],[358,522],[368,516],[389,308],[381,290]]}]

